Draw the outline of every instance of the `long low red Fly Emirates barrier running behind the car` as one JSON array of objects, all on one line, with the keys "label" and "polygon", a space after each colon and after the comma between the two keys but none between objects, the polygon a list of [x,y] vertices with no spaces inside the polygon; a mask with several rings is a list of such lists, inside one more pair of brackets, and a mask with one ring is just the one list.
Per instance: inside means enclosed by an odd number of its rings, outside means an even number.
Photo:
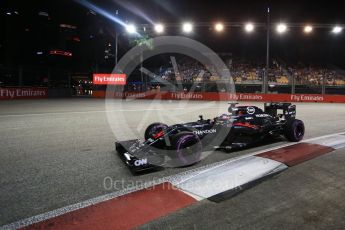
[{"label": "long low red Fly Emirates barrier running behind the car", "polygon": [[345,95],[184,93],[184,92],[106,92],[93,91],[95,98],[134,98],[160,100],[262,101],[262,102],[334,102],[345,103]]}]

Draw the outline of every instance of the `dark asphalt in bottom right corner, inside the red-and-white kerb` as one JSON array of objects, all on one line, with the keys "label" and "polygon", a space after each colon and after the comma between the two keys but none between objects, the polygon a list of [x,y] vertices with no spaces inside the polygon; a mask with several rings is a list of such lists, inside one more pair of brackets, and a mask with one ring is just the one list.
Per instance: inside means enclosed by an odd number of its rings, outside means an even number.
[{"label": "dark asphalt in bottom right corner, inside the red-and-white kerb", "polygon": [[345,151],[335,151],[231,199],[203,200],[139,229],[344,229],[344,162]]}]

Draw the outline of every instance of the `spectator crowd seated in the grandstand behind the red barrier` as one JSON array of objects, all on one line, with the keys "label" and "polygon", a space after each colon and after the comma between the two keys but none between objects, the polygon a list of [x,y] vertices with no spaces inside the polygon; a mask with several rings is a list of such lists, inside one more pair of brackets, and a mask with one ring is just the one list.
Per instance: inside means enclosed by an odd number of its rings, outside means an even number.
[{"label": "spectator crowd seated in the grandstand behind the red barrier", "polygon": [[[266,72],[265,63],[231,58],[224,61],[236,84],[261,84]],[[161,66],[156,77],[165,81],[182,81],[185,83],[217,81],[221,77],[210,66],[184,57],[176,61],[175,68]],[[268,82],[270,84],[288,85],[292,81],[296,85],[328,85],[344,86],[345,70],[329,66],[295,64],[288,65],[273,60],[270,63]]]}]

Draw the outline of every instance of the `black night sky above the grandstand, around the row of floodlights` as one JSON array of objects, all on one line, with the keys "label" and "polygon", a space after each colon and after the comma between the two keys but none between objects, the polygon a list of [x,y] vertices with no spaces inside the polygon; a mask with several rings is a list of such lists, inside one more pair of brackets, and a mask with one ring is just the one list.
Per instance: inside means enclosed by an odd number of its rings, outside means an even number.
[{"label": "black night sky above the grandstand, around the row of floodlights", "polygon": [[[278,22],[299,25],[329,24],[329,26],[345,23],[345,4],[341,1],[107,0],[89,2],[111,15],[115,15],[118,10],[118,17],[121,20],[136,24],[150,24],[157,21],[176,25],[184,21],[195,24],[205,22],[209,26],[196,27],[195,32],[188,37],[204,43],[216,52],[230,52],[239,57],[263,59],[266,52],[264,28],[256,28],[253,34],[246,34],[242,27],[231,27],[226,28],[222,34],[215,34],[212,24],[217,21],[265,23],[268,6],[271,9],[272,30]],[[6,12],[14,10],[19,12],[16,18],[6,15]],[[44,32],[42,32],[42,26],[45,25],[37,16],[39,11],[49,13],[50,26],[47,26]],[[5,65],[11,63],[8,61],[11,59],[9,56],[12,56],[12,62],[13,60],[26,62],[35,50],[61,47],[58,32],[50,27],[66,23],[78,27],[76,34],[81,40],[77,48],[70,44],[63,44],[63,48],[75,51],[72,65],[78,70],[91,65],[94,59],[103,57],[103,51],[99,50],[102,50],[107,42],[113,43],[115,28],[120,26],[100,13],[90,15],[87,12],[88,9],[85,6],[71,0],[1,1],[1,63]],[[29,28],[34,35],[27,36],[23,33],[26,28]],[[315,28],[313,34],[305,35],[302,29],[302,27],[289,28],[284,35],[277,35],[275,31],[272,31],[271,57],[282,58],[287,62],[336,64],[345,68],[345,31],[334,35],[330,33],[331,27]],[[181,35],[180,28],[166,28],[165,34]],[[92,41],[90,41],[90,35],[93,36]],[[119,45],[120,54],[130,48],[128,39],[124,37],[120,38]],[[48,62],[48,65],[49,63],[51,64]]]}]

